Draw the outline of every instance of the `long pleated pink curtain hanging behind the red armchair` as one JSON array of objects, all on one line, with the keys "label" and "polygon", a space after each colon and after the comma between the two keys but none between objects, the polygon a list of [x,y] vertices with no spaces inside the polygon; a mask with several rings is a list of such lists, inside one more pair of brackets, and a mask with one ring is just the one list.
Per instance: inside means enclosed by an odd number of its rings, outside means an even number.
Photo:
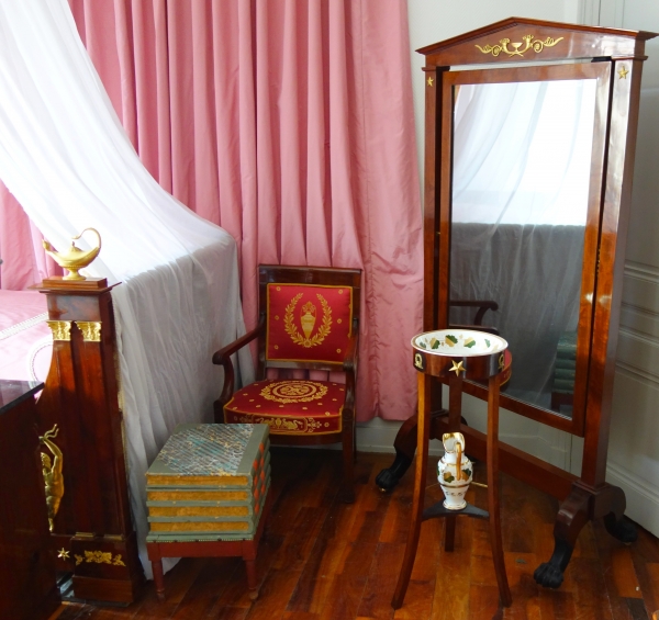
[{"label": "long pleated pink curtain hanging behind the red armchair", "polygon": [[358,418],[415,409],[422,225],[405,0],[69,0],[146,168],[259,263],[364,269]]}]

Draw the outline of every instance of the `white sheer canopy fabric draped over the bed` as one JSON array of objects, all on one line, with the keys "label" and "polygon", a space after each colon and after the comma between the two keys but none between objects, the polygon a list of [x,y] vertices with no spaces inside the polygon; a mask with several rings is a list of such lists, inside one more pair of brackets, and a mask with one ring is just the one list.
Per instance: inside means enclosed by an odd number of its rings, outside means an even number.
[{"label": "white sheer canopy fabric draped over the bed", "polygon": [[[112,296],[143,541],[147,465],[177,424],[210,421],[212,352],[244,331],[235,241],[143,167],[66,0],[0,3],[0,179],[56,248],[97,228],[103,248],[88,272],[123,281]],[[249,379],[247,351],[241,361]],[[150,575],[144,548],[141,556]]]}]

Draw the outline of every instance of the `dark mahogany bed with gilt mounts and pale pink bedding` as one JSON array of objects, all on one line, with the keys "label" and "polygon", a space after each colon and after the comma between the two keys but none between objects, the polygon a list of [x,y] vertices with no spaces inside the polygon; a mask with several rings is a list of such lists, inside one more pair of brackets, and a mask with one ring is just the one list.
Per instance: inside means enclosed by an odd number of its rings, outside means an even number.
[{"label": "dark mahogany bed with gilt mounts and pale pink bedding", "polygon": [[130,508],[111,289],[105,280],[87,288],[52,280],[35,291],[0,291],[0,377],[45,383],[36,431],[59,428],[53,441],[65,492],[51,548],[57,568],[71,575],[70,594],[127,604],[144,572]]}]

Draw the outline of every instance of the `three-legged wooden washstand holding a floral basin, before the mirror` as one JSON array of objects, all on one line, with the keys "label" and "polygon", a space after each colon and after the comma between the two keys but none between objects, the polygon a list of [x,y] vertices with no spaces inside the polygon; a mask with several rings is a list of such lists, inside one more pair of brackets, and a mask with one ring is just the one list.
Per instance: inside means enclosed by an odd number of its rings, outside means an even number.
[{"label": "three-legged wooden washstand holding a floral basin, before the mirror", "polygon": [[[412,567],[418,546],[421,522],[432,518],[446,518],[444,549],[454,550],[456,517],[465,515],[490,522],[490,542],[499,594],[504,607],[512,602],[511,590],[505,574],[501,518],[499,506],[499,388],[504,370],[504,351],[507,342],[503,338],[470,329],[442,329],[420,334],[412,339],[414,368],[418,371],[418,449],[412,499],[412,520],[407,533],[407,544],[403,565],[399,575],[391,606],[399,609],[403,605]],[[428,463],[428,440],[431,429],[431,383],[432,376],[448,379],[449,406],[448,430],[460,429],[462,381],[488,381],[488,511],[467,504],[459,510],[446,507],[446,503],[424,509],[426,469]]]}]

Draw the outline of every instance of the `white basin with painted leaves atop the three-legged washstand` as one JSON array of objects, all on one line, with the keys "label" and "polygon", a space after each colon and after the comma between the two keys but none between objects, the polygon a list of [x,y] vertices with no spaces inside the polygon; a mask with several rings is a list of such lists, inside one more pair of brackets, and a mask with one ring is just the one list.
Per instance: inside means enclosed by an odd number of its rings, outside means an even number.
[{"label": "white basin with painted leaves atop the three-legged washstand", "polygon": [[505,351],[507,342],[500,336],[476,329],[439,329],[417,334],[412,338],[412,347],[432,356],[476,358]]}]

